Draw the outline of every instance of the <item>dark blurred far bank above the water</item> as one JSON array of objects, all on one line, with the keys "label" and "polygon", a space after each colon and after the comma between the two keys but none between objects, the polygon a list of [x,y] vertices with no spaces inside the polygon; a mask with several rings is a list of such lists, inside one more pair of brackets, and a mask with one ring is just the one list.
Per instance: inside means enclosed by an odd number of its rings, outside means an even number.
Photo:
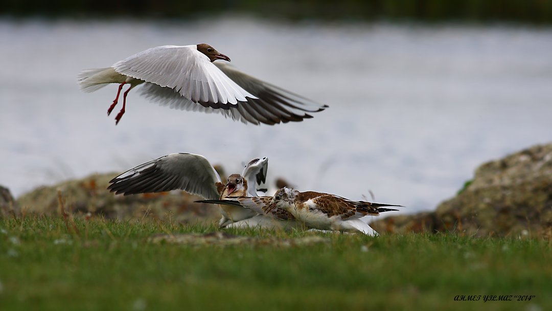
[{"label": "dark blurred far bank above the water", "polygon": [[243,0],[243,1],[107,1],[10,0],[0,14],[13,15],[126,15],[187,18],[227,11],[248,12],[290,19],[415,19],[552,22],[552,0]]}]

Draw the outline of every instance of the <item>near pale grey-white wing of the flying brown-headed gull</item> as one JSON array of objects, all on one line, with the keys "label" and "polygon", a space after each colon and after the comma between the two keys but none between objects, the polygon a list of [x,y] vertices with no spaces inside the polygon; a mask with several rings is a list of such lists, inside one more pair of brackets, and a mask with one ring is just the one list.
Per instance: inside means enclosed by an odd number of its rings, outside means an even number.
[{"label": "near pale grey-white wing of the flying brown-headed gull", "polygon": [[194,103],[227,109],[229,104],[254,98],[237,85],[196,45],[158,46],[116,62],[115,71],[133,78],[168,87]]}]

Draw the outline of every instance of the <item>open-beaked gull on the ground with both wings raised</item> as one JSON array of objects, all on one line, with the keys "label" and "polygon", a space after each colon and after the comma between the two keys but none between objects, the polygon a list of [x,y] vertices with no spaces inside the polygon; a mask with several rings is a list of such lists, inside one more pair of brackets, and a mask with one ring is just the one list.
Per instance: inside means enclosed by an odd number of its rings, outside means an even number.
[{"label": "open-beaked gull on the ground with both wings raised", "polygon": [[[230,175],[225,186],[204,156],[178,153],[162,156],[122,173],[109,181],[111,185],[108,189],[125,196],[175,189],[211,200],[258,196],[257,184],[266,182],[267,170],[267,157],[254,159],[243,168],[241,175]],[[254,210],[231,205],[219,205],[219,208],[222,214],[219,221],[221,227],[257,214]]]}]

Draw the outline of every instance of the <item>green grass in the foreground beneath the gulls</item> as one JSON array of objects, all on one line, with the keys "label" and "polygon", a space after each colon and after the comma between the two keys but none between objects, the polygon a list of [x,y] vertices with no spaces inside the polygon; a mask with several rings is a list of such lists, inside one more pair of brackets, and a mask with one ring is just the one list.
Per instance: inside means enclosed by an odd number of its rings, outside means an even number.
[{"label": "green grass in the foreground beneath the gulls", "polygon": [[[211,225],[0,219],[0,310],[552,309],[552,248],[543,239],[229,230],[328,243],[186,246],[158,233]],[[534,295],[454,301],[457,295]]]}]

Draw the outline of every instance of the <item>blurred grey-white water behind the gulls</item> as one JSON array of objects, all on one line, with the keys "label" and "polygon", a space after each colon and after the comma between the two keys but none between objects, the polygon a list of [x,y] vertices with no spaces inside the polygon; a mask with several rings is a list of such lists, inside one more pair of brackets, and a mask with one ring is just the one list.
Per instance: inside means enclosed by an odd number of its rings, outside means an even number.
[{"label": "blurred grey-white water behind the gulls", "polygon": [[[434,209],[475,167],[552,140],[552,29],[512,24],[261,19],[0,19],[0,185],[15,196],[192,152],[269,186]],[[160,107],[76,76],[160,45],[208,43],[240,70],[330,106],[255,126]]]}]

